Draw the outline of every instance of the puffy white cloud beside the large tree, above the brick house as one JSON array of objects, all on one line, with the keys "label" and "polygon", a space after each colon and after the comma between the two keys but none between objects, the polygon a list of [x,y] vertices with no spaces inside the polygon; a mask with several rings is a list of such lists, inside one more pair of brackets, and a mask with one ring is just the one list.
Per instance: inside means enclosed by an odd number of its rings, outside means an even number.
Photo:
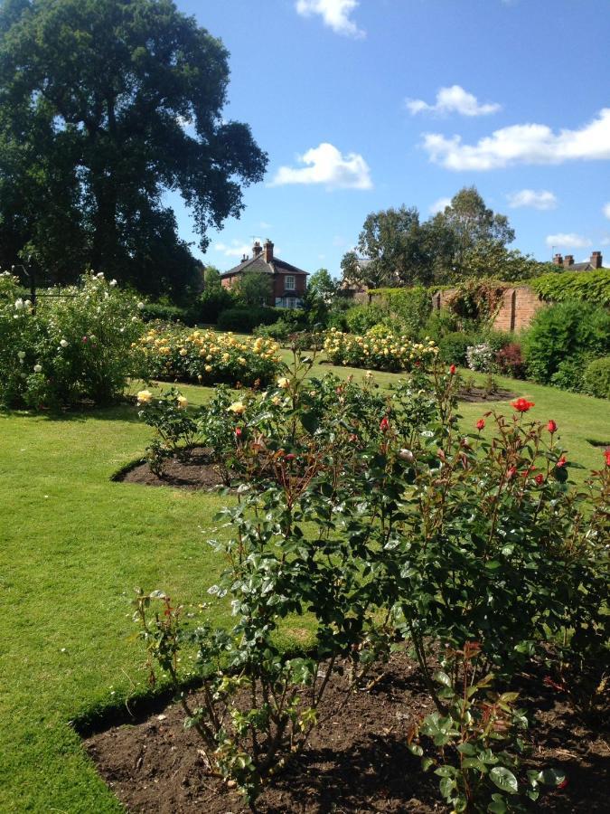
[{"label": "puffy white cloud beside the large tree, above the brick house", "polygon": [[304,167],[280,166],[271,186],[324,184],[327,189],[371,189],[371,169],[358,153],[343,156],[332,144],[312,147],[297,156]]}]

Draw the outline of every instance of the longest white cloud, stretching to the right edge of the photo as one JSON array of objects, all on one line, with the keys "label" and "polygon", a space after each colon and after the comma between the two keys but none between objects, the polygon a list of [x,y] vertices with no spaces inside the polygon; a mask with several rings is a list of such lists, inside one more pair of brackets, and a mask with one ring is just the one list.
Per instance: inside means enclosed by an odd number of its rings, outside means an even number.
[{"label": "longest white cloud, stretching to the right edge of the photo", "polygon": [[515,164],[562,164],[610,158],[610,108],[577,130],[556,134],[546,125],[512,125],[495,130],[475,145],[462,144],[460,136],[439,133],[424,137],[430,160],[451,170],[491,170]]}]

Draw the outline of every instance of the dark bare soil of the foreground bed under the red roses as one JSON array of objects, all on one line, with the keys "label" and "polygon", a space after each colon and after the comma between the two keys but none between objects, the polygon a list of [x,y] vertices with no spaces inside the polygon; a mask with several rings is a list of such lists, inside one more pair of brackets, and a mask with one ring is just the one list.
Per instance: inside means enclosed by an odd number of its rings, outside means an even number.
[{"label": "dark bare soil of the foreground bed under the red roses", "polygon": [[[406,745],[409,725],[431,710],[418,669],[399,655],[384,672],[371,690],[353,694],[342,712],[314,733],[308,749],[267,786],[257,801],[260,814],[447,810],[438,795],[438,779],[420,771],[419,759]],[[344,695],[343,679],[336,677],[325,696],[325,708],[336,708]],[[560,694],[542,685],[540,677],[525,681],[521,698],[530,708],[530,717],[534,711],[536,715],[531,766],[556,766],[568,777],[566,788],[553,790],[540,810],[554,814],[607,811],[610,732],[588,729]],[[197,734],[184,730],[178,706],[144,711],[130,724],[89,735],[85,745],[128,811],[242,814],[249,810],[235,790],[206,776]]]}]

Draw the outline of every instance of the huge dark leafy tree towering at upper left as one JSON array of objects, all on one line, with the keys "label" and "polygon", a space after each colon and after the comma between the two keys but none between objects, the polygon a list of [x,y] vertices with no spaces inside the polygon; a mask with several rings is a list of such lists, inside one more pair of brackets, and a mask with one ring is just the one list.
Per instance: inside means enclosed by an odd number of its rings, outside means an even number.
[{"label": "huge dark leafy tree towering at upper left", "polygon": [[228,81],[222,43],[171,0],[0,0],[0,264],[183,288],[197,267],[166,193],[204,251],[267,165],[222,118]]}]

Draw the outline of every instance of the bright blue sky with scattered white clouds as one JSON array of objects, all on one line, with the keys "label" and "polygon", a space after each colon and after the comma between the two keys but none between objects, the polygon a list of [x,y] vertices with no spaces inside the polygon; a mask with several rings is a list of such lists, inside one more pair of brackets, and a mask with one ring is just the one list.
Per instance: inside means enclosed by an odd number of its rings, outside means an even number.
[{"label": "bright blue sky with scattered white clouds", "polygon": [[[338,276],[371,212],[463,186],[513,248],[610,266],[610,0],[176,0],[230,52],[224,118],[269,156],[202,255],[253,240]],[[183,238],[197,241],[171,196]]]}]

